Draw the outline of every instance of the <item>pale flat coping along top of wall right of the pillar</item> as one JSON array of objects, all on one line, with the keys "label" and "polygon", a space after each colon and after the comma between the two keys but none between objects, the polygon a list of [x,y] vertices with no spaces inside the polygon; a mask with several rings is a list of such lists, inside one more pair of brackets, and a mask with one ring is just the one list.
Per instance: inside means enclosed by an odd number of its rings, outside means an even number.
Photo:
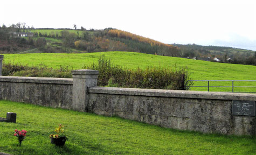
[{"label": "pale flat coping along top of wall right of the pillar", "polygon": [[164,90],[164,89],[137,89],[137,88],[115,88],[115,87],[91,87],[89,93],[116,94],[134,96],[156,96],[156,97],[178,97],[178,98],[202,98],[213,100],[240,100],[256,101],[256,94],[247,93],[223,93],[208,91],[188,90]]}]

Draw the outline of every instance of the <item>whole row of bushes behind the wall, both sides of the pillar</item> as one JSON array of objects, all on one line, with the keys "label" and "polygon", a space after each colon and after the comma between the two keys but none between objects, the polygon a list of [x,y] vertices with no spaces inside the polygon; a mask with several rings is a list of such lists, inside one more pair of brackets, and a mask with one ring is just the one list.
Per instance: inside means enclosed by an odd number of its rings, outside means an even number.
[{"label": "whole row of bushes behind the wall, both sides of the pillar", "polygon": [[[186,68],[163,68],[148,67],[128,69],[114,65],[112,61],[103,55],[98,60],[98,64],[84,66],[84,69],[94,69],[100,72],[98,86],[107,87],[127,87],[127,88],[151,88],[151,89],[174,89],[182,90],[183,79],[189,79]],[[4,76],[31,76],[48,78],[72,78],[73,69],[60,66],[59,69],[49,68],[45,65],[23,66],[20,64],[3,64],[2,74]],[[184,78],[183,78],[184,76]],[[190,85],[192,83],[189,83]]]}]

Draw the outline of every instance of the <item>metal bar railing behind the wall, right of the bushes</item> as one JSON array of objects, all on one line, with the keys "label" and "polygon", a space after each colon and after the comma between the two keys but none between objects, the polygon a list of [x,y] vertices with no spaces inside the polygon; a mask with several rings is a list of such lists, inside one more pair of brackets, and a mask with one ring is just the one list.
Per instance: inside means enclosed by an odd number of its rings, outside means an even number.
[{"label": "metal bar railing behind the wall, right of the bushes", "polygon": [[[189,81],[197,81],[197,82],[207,82],[207,86],[187,86]],[[210,82],[232,82],[232,86],[210,86]],[[255,82],[255,86],[234,86],[234,82]],[[210,91],[210,87],[222,87],[222,88],[232,88],[232,91],[225,91],[229,93],[256,93],[256,91],[234,91],[234,88],[256,88],[256,80],[188,80],[185,83],[185,89],[189,90],[190,87],[207,87],[208,91]]]}]

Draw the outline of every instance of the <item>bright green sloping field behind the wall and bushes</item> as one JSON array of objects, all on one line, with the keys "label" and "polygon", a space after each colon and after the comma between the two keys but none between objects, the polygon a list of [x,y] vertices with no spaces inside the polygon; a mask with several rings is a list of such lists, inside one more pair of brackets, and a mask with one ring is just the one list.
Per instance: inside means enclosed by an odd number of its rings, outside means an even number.
[{"label": "bright green sloping field behind the wall and bushes", "polygon": [[[22,65],[38,66],[46,65],[52,68],[69,66],[71,69],[81,69],[85,65],[97,62],[101,55],[105,55],[114,64],[128,68],[156,67],[187,67],[191,80],[256,80],[256,66],[224,64],[218,62],[200,61],[175,57],[164,57],[151,54],[135,52],[100,52],[82,54],[52,54],[52,53],[33,53],[33,54],[4,54],[4,62],[20,63]],[[195,83],[202,86],[204,83]],[[231,82],[213,83],[214,86],[232,86]],[[255,86],[256,82],[235,83],[236,86]],[[235,91],[245,91],[236,88]],[[207,88],[192,88],[192,90],[207,91]],[[247,91],[256,91],[254,88]],[[210,91],[231,91],[231,88],[211,88]]]}]

